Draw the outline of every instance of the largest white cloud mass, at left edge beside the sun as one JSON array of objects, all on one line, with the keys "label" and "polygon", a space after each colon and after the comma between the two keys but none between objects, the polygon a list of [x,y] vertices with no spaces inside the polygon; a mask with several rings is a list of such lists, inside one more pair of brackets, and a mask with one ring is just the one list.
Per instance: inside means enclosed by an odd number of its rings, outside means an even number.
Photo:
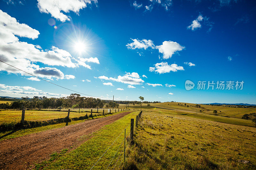
[{"label": "largest white cloud mass, at left edge beside the sun", "polygon": [[[40,68],[37,62],[49,66],[78,67],[72,56],[65,50],[52,46],[51,50],[42,50],[41,46],[19,41],[18,37],[36,39],[39,32],[26,24],[20,24],[15,18],[0,10],[0,59],[14,67],[26,70],[30,74],[48,79],[64,79],[64,74],[56,68]],[[82,61],[81,61],[82,62]],[[88,65],[87,65],[88,66]],[[84,65],[84,67],[87,67]],[[89,66],[90,67],[90,66]],[[28,75],[4,63],[0,63],[0,71]]]}]

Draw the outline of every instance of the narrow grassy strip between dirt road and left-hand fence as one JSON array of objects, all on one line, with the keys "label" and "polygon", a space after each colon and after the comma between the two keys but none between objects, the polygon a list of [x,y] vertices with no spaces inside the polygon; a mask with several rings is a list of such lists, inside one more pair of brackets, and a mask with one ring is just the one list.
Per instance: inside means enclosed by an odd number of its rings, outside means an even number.
[{"label": "narrow grassy strip between dirt road and left-hand fence", "polygon": [[[101,117],[106,117],[106,116],[111,116],[111,115],[116,115],[116,114],[119,114],[119,113],[113,113],[113,114],[94,117],[94,118],[101,118]],[[92,118],[88,118],[86,120],[90,120],[90,119],[92,119]],[[68,123],[68,125],[81,123],[81,122],[84,122],[86,120],[71,121],[71,122]],[[60,124],[52,124],[52,125],[48,125],[48,126],[42,126],[42,127],[37,127],[37,128],[31,128],[31,129],[20,129],[18,131],[14,131],[14,132],[12,132],[12,131],[1,132],[0,133],[0,140],[21,137],[21,136],[28,135],[28,134],[31,134],[31,133],[37,133],[37,132],[40,132],[40,131],[46,131],[46,130],[50,130],[50,129],[60,128],[60,127],[63,127],[65,125],[66,125],[66,123],[60,123]],[[7,134],[9,134],[9,135],[7,135]],[[4,136],[4,135],[6,135],[6,136]]]}]

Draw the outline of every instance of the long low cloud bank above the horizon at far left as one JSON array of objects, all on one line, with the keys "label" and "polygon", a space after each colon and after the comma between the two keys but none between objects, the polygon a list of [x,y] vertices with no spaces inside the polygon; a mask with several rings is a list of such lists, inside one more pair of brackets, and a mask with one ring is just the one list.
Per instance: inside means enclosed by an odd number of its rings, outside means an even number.
[{"label": "long low cloud bank above the horizon at far left", "polygon": [[31,96],[49,96],[49,97],[65,97],[65,94],[48,93],[30,86],[8,86],[0,84],[0,92],[6,95],[31,95]]}]

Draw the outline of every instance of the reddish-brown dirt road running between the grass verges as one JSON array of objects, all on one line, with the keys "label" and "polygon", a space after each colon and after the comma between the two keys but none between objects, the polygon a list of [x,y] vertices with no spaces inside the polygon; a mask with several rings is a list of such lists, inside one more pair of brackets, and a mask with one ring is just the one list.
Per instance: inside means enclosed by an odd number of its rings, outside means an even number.
[{"label": "reddish-brown dirt road running between the grass verges", "polygon": [[80,136],[97,131],[131,112],[2,140],[0,141],[0,169],[29,169],[34,162],[46,159],[52,152],[59,152],[70,146],[76,148],[86,140],[77,140]]}]

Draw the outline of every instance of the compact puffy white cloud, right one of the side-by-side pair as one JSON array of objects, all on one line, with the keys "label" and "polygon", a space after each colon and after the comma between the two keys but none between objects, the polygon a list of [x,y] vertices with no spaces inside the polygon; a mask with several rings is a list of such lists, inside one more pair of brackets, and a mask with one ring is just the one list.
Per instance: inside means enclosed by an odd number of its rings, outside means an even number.
[{"label": "compact puffy white cloud, right one of the side-by-side pair", "polygon": [[177,51],[181,51],[184,49],[184,46],[180,46],[179,43],[173,41],[164,41],[162,45],[156,46],[158,48],[159,53],[163,53],[163,58],[168,59],[172,57]]}]

